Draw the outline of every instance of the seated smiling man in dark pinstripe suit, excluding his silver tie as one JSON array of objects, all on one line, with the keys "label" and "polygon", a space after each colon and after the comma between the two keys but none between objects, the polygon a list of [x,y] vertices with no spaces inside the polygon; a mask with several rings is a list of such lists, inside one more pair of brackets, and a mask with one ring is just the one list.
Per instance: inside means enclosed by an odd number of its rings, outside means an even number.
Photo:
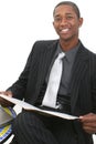
[{"label": "seated smiling man in dark pinstripe suit, excluding his silver tie", "polygon": [[[92,136],[96,133],[96,55],[78,39],[83,18],[75,3],[60,2],[53,18],[60,39],[35,42],[19,80],[1,93],[24,99],[43,109],[79,116],[79,120],[67,121],[23,110],[13,122],[14,138],[11,144],[93,144]],[[65,56],[62,58],[56,106],[46,105],[44,99],[50,75],[61,52]],[[8,104],[2,99],[0,102]]]}]

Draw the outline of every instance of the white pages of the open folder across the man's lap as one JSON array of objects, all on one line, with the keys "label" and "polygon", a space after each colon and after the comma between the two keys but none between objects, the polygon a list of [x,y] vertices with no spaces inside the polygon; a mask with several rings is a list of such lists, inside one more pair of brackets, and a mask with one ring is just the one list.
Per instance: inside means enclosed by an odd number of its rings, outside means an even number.
[{"label": "white pages of the open folder across the man's lap", "polygon": [[14,99],[14,97],[10,97],[10,96],[3,95],[3,94],[0,94],[0,96],[2,99],[6,99],[7,101],[10,101],[10,102],[12,102],[14,104],[20,105],[21,107],[23,107],[23,109],[25,109],[28,111],[36,111],[36,112],[41,112],[43,114],[50,114],[50,115],[54,115],[54,116],[66,119],[66,120],[76,120],[76,119],[78,119],[78,116],[73,116],[73,115],[65,114],[65,113],[41,110],[41,109],[39,109],[39,107],[34,106],[34,105],[31,105],[31,104],[29,104],[29,103],[26,103],[24,101],[21,101],[21,100]]}]

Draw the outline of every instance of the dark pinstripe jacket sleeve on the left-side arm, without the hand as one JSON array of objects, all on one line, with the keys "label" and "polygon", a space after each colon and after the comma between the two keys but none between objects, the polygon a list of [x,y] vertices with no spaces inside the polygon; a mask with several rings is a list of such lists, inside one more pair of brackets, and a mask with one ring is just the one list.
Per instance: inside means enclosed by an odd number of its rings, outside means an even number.
[{"label": "dark pinstripe jacket sleeve on the left-side arm, without the hand", "polygon": [[[34,43],[35,45],[35,43]],[[26,64],[20,74],[19,79],[9,88],[7,91],[11,91],[13,94],[13,97],[22,100],[24,97],[25,91],[26,91],[26,84],[29,80],[29,73],[30,73],[30,68],[32,63],[32,58],[34,54],[34,45],[28,56]]]}]

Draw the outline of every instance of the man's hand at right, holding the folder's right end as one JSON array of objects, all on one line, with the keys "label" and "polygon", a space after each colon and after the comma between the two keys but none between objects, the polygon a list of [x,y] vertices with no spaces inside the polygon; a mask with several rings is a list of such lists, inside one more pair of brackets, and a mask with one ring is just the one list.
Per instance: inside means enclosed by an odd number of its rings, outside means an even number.
[{"label": "man's hand at right, holding the folder's right end", "polygon": [[88,113],[86,115],[79,116],[79,121],[82,122],[83,128],[86,133],[96,133],[96,114]]}]

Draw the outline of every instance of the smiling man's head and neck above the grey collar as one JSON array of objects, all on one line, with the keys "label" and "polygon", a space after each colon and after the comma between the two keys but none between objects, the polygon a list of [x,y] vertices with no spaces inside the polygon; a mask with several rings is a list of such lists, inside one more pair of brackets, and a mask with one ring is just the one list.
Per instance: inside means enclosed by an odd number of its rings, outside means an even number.
[{"label": "smiling man's head and neck above the grey collar", "polygon": [[58,3],[54,9],[53,25],[60,35],[60,44],[64,51],[73,49],[78,43],[78,29],[83,23],[79,10],[75,8],[75,4]]}]

